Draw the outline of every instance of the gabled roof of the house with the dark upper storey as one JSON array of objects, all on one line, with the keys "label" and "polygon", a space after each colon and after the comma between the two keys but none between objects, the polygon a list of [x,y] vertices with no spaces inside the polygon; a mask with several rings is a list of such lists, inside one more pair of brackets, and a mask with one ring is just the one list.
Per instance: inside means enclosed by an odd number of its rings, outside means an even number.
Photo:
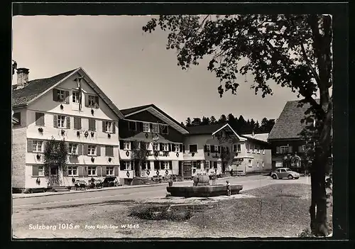
[{"label": "gabled roof of the house with the dark upper storey", "polygon": [[129,109],[122,109],[121,113],[124,114],[125,118],[129,119],[129,116],[132,116],[133,114],[138,114],[141,111],[149,111],[151,114],[154,116],[157,116],[158,118],[162,119],[166,123],[170,123],[170,125],[175,128],[177,131],[180,131],[182,134],[187,134],[188,131],[185,128],[185,126],[182,126],[178,121],[176,121],[174,118],[166,114],[164,111],[159,109],[155,104],[148,104],[144,106],[136,106],[132,107]]}]

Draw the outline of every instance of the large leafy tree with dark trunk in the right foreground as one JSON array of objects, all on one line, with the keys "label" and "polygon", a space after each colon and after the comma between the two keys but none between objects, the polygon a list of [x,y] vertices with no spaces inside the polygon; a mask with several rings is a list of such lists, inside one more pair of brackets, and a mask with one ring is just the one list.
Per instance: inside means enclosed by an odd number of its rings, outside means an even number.
[{"label": "large leafy tree with dark trunk in the right foreground", "polygon": [[[167,49],[178,52],[178,66],[187,70],[209,58],[207,70],[220,80],[219,95],[239,87],[238,73],[251,73],[251,88],[263,97],[273,94],[269,82],[302,96],[316,122],[312,157],[311,230],[327,235],[325,168],[331,143],[332,19],[327,15],[164,16],[152,18],[143,31],[157,26],[169,31]],[[319,92],[320,100],[315,94]]]}]

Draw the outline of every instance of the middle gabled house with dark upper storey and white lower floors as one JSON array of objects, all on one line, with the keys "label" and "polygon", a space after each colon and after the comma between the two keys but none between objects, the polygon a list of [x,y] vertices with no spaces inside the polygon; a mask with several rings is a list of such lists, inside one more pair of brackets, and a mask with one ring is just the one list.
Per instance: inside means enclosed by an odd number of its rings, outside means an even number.
[{"label": "middle gabled house with dark upper storey and white lower floors", "polygon": [[[129,183],[137,177],[137,167],[141,168],[138,177],[156,175],[181,175],[183,160],[183,140],[188,133],[178,121],[150,104],[121,110],[125,119],[119,121],[120,160],[119,175]],[[132,165],[131,155],[134,141],[146,146],[146,165]]]}]

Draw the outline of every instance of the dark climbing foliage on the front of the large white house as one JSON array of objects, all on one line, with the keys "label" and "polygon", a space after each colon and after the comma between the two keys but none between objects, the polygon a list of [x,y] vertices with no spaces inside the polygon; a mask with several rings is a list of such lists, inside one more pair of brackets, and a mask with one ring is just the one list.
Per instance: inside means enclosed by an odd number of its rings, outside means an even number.
[{"label": "dark climbing foliage on the front of the large white house", "polygon": [[44,150],[44,173],[46,177],[50,176],[50,166],[58,165],[58,170],[67,172],[68,148],[65,140],[55,140],[52,138],[45,144]]}]

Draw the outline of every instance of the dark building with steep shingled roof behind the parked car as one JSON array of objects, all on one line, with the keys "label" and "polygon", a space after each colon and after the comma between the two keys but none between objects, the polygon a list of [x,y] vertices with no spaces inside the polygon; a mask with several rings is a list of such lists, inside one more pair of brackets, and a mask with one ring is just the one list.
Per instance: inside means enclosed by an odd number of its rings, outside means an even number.
[{"label": "dark building with steep shingled roof behind the parked car", "polygon": [[297,172],[303,172],[305,160],[305,140],[300,138],[300,132],[306,124],[301,123],[305,111],[310,107],[304,104],[297,107],[298,101],[288,101],[275,122],[268,136],[271,143],[273,170],[277,167],[289,167]]}]

